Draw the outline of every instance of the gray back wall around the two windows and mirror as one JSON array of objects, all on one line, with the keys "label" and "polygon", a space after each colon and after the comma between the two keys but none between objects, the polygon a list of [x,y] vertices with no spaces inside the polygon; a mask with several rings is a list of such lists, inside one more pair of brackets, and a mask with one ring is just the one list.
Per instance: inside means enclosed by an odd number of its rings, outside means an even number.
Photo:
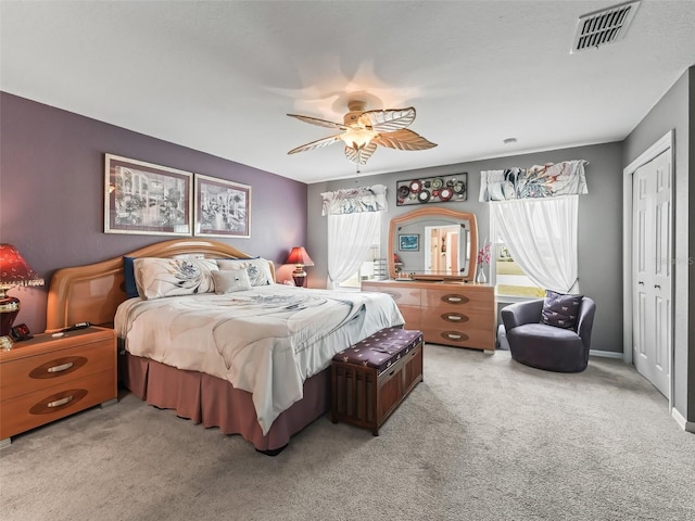
[{"label": "gray back wall around the two windows and mirror", "polygon": [[[417,153],[381,150],[377,153]],[[320,193],[342,188],[386,185],[389,211],[383,215],[381,237],[382,256],[386,257],[389,221],[392,217],[412,211],[413,206],[396,206],[395,185],[399,180],[468,173],[468,200],[460,203],[430,203],[462,212],[473,212],[478,217],[480,241],[489,236],[489,205],[478,201],[480,171],[510,167],[529,167],[567,160],[586,160],[589,194],[579,198],[579,281],[582,293],[596,301],[597,314],[592,335],[592,348],[622,353],[622,155],[620,143],[563,149],[525,155],[510,155],[493,160],[462,163],[421,170],[359,175],[339,181],[308,186],[307,251],[315,263],[309,268],[308,285],[325,288],[328,276],[327,218],[321,217]],[[364,168],[368,170],[368,166]]]}]

